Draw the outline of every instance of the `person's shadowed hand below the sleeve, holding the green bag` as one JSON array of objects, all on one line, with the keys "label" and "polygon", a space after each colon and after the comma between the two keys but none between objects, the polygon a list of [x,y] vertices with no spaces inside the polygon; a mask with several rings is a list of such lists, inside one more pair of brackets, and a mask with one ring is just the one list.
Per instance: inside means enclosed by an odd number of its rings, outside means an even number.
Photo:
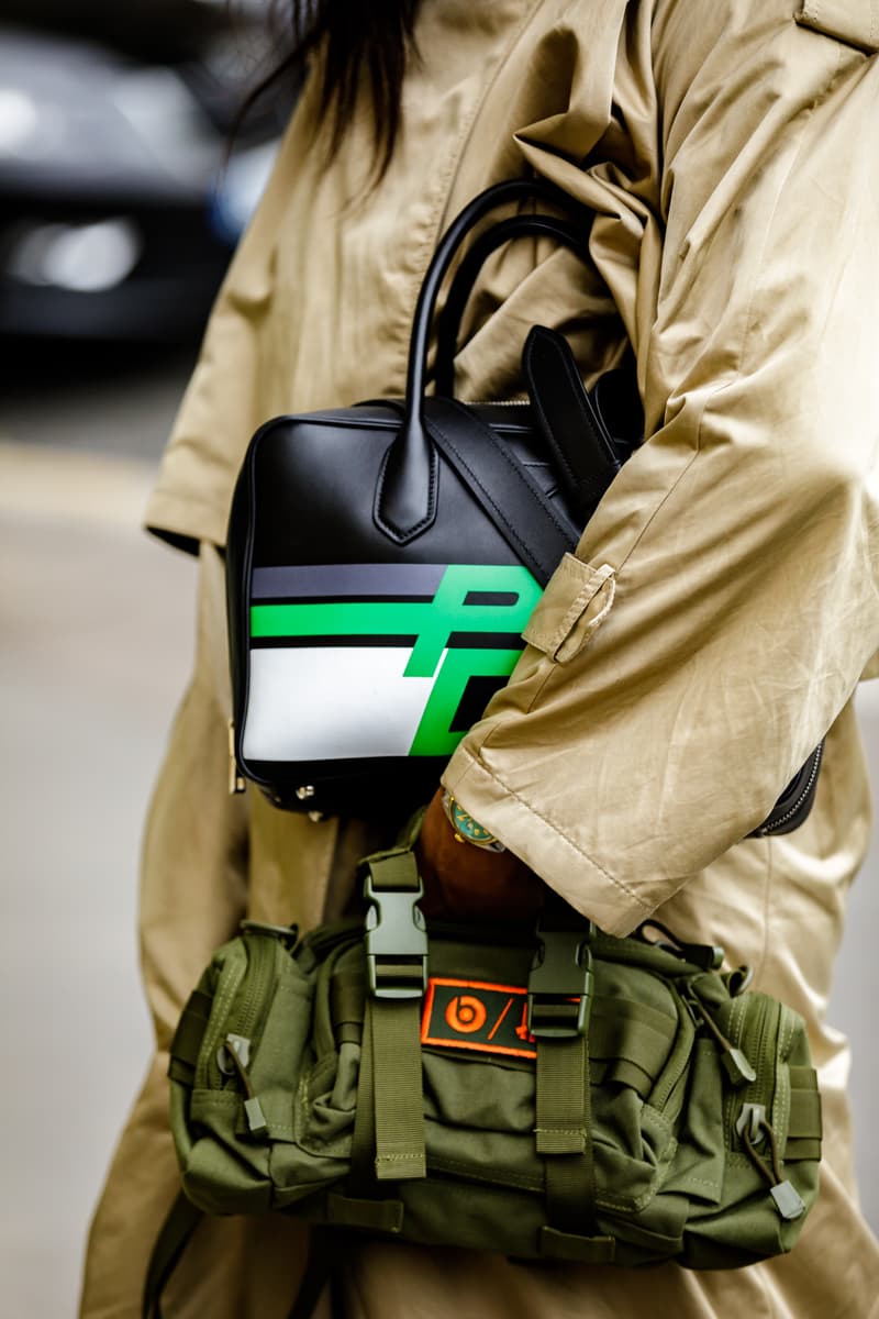
[{"label": "person's shadowed hand below the sleeve, holding the green bag", "polygon": [[438,790],[415,845],[424,882],[422,910],[444,921],[530,922],[543,902],[542,880],[513,852],[492,852],[455,836]]}]

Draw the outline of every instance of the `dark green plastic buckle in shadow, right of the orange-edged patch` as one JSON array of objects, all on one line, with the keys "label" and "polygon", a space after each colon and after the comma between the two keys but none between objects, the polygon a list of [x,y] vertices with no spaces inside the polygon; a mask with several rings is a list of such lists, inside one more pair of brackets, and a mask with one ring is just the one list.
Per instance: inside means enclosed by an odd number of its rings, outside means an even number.
[{"label": "dark green plastic buckle in shadow, right of the orange-edged patch", "polygon": [[538,921],[539,947],[528,976],[528,1030],[538,1039],[585,1035],[594,977],[592,921],[548,930]]}]

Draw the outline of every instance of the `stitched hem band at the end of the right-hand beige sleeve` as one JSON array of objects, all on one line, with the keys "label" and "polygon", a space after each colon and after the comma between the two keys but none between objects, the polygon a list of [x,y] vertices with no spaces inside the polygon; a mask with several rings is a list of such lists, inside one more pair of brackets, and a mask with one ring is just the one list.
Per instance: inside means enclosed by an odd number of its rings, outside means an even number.
[{"label": "stitched hem band at the end of the right-hand beige sleeve", "polygon": [[631,934],[655,910],[655,902],[646,902],[609,874],[579,843],[464,747],[457,748],[447,766],[443,786],[544,884],[608,934]]}]

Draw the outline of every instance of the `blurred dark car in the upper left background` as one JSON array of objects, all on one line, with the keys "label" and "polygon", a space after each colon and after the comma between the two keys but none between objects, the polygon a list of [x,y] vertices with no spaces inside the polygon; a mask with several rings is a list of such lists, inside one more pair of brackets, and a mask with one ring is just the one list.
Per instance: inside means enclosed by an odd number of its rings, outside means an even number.
[{"label": "blurred dark car in the upper left background", "polygon": [[204,323],[293,107],[261,0],[0,0],[0,335]]}]

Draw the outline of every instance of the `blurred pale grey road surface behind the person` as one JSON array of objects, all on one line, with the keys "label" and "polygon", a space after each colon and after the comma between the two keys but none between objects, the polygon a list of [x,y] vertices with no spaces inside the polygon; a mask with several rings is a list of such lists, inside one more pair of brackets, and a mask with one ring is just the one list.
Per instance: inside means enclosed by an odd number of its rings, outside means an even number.
[{"label": "blurred pale grey road surface behind the person", "polygon": [[[14,1319],[72,1319],[88,1217],[150,1047],[138,849],[190,665],[195,572],[140,520],[190,360],[54,350],[4,371],[0,1311]],[[859,703],[879,782],[879,683]],[[878,878],[874,845],[830,1012],[854,1045],[874,1229]]]}]

